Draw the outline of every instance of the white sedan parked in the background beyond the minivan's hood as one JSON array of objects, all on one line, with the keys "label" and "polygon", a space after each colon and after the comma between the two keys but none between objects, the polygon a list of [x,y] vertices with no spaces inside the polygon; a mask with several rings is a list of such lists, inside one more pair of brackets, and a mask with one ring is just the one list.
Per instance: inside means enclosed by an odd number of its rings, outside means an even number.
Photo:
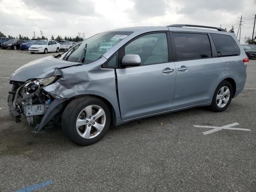
[{"label": "white sedan parked in the background beyond the minivan's hood", "polygon": [[34,53],[48,53],[60,51],[60,44],[54,40],[38,40],[34,45],[28,48],[32,54]]}]

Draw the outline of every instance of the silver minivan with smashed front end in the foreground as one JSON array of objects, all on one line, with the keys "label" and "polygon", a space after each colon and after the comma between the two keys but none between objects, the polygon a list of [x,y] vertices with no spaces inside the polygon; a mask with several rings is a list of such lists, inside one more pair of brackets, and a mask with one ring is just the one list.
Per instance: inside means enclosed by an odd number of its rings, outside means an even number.
[{"label": "silver minivan with smashed front end in the foreground", "polygon": [[234,33],[222,28],[109,30],[18,68],[8,106],[34,132],[61,124],[70,140],[90,145],[112,124],[196,106],[224,111],[244,88],[247,62]]}]

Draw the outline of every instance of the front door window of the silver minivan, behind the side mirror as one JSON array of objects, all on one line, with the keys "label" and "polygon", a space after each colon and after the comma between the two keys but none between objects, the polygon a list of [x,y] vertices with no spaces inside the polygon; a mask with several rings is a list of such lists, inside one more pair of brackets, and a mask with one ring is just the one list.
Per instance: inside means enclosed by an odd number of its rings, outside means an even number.
[{"label": "front door window of the silver minivan, behind the side mirror", "polygon": [[125,54],[140,56],[141,65],[168,62],[166,33],[153,33],[141,36],[124,48]]}]

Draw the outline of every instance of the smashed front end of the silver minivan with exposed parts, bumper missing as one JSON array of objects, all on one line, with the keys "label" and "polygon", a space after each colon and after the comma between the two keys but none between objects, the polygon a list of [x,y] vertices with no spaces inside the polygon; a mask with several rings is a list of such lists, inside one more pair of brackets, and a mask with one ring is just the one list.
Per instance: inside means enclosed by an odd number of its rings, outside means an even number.
[{"label": "smashed front end of the silver minivan with exposed parts, bumper missing", "polygon": [[13,86],[8,95],[8,106],[14,120],[20,122],[21,114],[24,114],[28,125],[39,122],[34,132],[39,132],[51,120],[58,123],[59,117],[54,119],[54,116],[62,109],[62,103],[65,99],[43,90],[44,86],[55,82],[57,79],[57,76],[52,76],[26,82],[10,81]]}]

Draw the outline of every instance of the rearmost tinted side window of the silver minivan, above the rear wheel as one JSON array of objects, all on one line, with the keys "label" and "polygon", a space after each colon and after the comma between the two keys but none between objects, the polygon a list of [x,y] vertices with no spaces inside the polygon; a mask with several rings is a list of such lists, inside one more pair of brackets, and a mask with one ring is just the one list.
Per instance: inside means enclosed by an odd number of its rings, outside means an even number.
[{"label": "rearmost tinted side window of the silver minivan, above the rear wheel", "polygon": [[214,33],[211,33],[211,36],[219,57],[240,55],[240,48],[232,36]]}]

